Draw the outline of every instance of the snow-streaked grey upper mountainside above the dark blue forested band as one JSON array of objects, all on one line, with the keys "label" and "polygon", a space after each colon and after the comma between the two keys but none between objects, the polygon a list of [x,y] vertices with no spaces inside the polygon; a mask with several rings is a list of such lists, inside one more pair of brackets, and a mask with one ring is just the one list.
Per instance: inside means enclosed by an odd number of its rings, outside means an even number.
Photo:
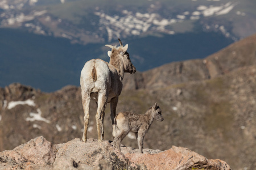
[{"label": "snow-streaked grey upper mountainside above the dark blue forested band", "polygon": [[126,38],[193,32],[195,25],[237,40],[256,32],[255,6],[249,0],[239,3],[233,0],[131,3],[14,0],[0,4],[0,26],[64,37],[81,44],[113,41],[121,35]]}]

